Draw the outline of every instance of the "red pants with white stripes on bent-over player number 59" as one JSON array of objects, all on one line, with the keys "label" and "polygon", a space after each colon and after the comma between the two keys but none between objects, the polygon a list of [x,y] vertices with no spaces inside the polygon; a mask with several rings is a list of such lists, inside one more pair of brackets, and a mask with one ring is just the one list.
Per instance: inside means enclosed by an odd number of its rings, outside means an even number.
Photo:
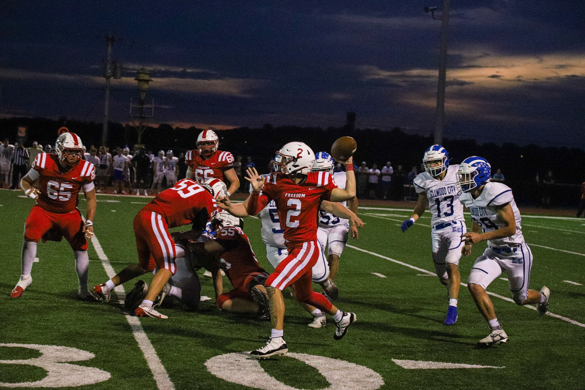
[{"label": "red pants with white stripes on bent-over player number 59", "polygon": [[140,210],[134,218],[134,235],[138,250],[138,264],[147,271],[153,271],[154,265],[177,272],[175,265],[175,241],[168,233],[166,220],[160,214]]}]

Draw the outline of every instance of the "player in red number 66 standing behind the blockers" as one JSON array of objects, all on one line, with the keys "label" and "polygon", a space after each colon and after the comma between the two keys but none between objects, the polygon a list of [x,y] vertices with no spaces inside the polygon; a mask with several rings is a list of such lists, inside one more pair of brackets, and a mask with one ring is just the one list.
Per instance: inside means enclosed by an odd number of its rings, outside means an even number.
[{"label": "player in red number 66 standing behind the blockers", "polygon": [[[228,185],[228,197],[240,188],[240,180],[233,169],[233,154],[218,150],[219,137],[213,130],[203,130],[197,137],[197,149],[185,154],[187,178],[199,183],[211,178]],[[227,179],[227,181],[224,179]]]}]

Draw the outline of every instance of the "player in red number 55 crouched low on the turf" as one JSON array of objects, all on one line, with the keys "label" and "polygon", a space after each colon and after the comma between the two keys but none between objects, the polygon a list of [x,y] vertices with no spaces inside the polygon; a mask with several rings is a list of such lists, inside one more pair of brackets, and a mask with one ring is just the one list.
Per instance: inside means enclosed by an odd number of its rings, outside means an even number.
[{"label": "player in red number 55 crouched low on the turf", "polygon": [[[215,239],[189,243],[187,248],[211,271],[216,305],[230,313],[268,316],[269,304],[263,284],[269,275],[260,267],[248,237],[242,229],[223,218],[212,220],[211,230],[215,232]],[[220,269],[225,271],[233,286],[228,292],[223,292]]]}]

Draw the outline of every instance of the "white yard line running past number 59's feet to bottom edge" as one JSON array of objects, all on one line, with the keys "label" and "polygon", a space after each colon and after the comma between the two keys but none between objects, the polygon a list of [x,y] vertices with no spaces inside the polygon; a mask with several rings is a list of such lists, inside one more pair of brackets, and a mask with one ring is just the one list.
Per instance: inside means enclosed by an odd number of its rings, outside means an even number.
[{"label": "white yard line running past number 59's feet to bottom edge", "polygon": [[[113,270],[108,257],[104,253],[102,246],[99,244],[99,241],[96,236],[91,238],[91,243],[94,246],[95,251],[98,254],[99,259],[102,261],[102,265],[104,265],[104,269],[106,274],[108,274],[109,278],[113,278],[116,276],[116,271]],[[124,297],[126,293],[124,292],[124,288],[122,285],[117,286],[114,291],[118,296],[118,302],[122,305],[124,304]],[[130,316],[126,314],[126,320],[130,324],[130,328],[132,329],[132,333],[134,334],[134,338],[142,350],[144,354],[144,358],[146,358],[146,363],[148,364],[150,371],[152,371],[154,381],[156,382],[157,388],[160,390],[172,390],[174,389],[173,382],[168,377],[167,370],[164,368],[163,363],[161,363],[159,356],[157,356],[156,351],[152,343],[150,342],[148,336],[144,332],[142,325],[140,324],[140,320],[136,316]],[[155,319],[156,321],[156,319]]]}]

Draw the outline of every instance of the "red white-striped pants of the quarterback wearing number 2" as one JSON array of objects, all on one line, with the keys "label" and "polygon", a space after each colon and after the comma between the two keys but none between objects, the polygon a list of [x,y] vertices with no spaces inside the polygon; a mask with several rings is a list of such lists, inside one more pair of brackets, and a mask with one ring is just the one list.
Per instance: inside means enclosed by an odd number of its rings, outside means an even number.
[{"label": "red white-striped pants of the quarterback wearing number 2", "polygon": [[320,251],[321,245],[317,240],[291,244],[288,256],[278,264],[264,285],[283,290],[292,284],[297,301],[328,312],[333,305],[325,296],[314,292],[312,285],[312,268],[321,256]]}]

